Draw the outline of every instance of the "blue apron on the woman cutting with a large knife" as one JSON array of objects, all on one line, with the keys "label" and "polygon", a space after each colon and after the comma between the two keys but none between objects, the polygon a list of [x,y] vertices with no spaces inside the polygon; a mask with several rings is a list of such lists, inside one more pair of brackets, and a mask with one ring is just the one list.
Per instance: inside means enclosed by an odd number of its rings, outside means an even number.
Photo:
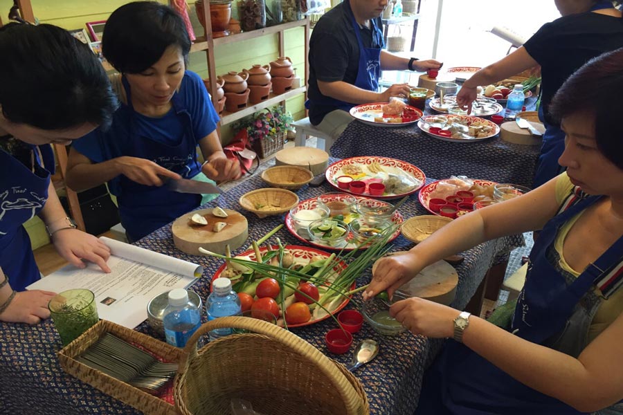
[{"label": "blue apron on the woman cutting with a large knife", "polygon": [[[152,160],[183,178],[197,176],[201,172],[201,165],[197,162],[197,140],[192,131],[190,113],[183,107],[179,95],[173,95],[171,104],[172,110],[182,119],[183,131],[177,145],[168,145],[145,137],[138,131],[137,114],[132,106],[131,91],[125,77],[123,86],[127,95],[125,115],[129,123],[127,142],[124,143],[125,156]],[[141,185],[122,175],[119,176],[117,200],[121,223],[129,239],[137,241],[197,208],[201,203],[201,195],[172,192],[165,186]]]}]

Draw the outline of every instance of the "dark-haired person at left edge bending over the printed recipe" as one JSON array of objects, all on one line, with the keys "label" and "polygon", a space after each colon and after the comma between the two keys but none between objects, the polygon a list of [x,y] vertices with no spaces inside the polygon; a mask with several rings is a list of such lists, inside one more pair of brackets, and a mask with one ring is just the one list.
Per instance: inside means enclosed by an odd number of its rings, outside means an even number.
[{"label": "dark-haired person at left edge bending over the printed recipe", "polygon": [[26,221],[39,216],[66,261],[110,272],[109,249],[75,229],[60,204],[49,143],[69,144],[109,121],[116,99],[98,59],[61,28],[4,26],[0,55],[8,57],[0,66],[0,321],[35,324],[49,317],[54,293],[25,291],[41,278]]}]

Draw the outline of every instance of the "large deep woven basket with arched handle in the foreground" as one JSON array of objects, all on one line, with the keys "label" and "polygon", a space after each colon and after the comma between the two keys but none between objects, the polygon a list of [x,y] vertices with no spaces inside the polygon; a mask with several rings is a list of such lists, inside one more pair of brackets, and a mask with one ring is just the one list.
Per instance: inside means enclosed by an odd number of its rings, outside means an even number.
[{"label": "large deep woven basket with arched handle in the foreground", "polygon": [[[201,335],[235,327],[253,333],[228,335],[196,351]],[[359,381],[305,340],[248,317],[222,317],[201,326],[183,349],[174,381],[183,415],[228,414],[242,398],[262,414],[364,415],[368,399]]]}]

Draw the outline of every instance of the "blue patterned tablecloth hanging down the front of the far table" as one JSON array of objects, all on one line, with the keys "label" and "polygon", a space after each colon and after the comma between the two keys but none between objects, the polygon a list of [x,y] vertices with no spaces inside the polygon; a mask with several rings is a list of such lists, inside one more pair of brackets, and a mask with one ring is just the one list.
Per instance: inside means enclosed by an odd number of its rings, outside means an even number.
[{"label": "blue patterned tablecloth hanging down the front of the far table", "polygon": [[383,156],[422,169],[426,177],[468,176],[532,187],[539,145],[518,145],[499,136],[474,142],[449,142],[408,127],[372,127],[351,122],[331,147],[338,158]]}]

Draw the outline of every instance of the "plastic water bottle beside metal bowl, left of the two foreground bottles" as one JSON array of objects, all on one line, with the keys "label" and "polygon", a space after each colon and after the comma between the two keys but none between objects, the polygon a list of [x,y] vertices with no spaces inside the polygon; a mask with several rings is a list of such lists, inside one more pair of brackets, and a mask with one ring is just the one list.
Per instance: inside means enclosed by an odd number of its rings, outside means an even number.
[{"label": "plastic water bottle beside metal bowl, left of the two foreground bottles", "polygon": [[186,346],[190,336],[201,326],[201,311],[188,300],[188,291],[183,288],[169,291],[169,305],[164,311],[163,324],[168,344]]}]

